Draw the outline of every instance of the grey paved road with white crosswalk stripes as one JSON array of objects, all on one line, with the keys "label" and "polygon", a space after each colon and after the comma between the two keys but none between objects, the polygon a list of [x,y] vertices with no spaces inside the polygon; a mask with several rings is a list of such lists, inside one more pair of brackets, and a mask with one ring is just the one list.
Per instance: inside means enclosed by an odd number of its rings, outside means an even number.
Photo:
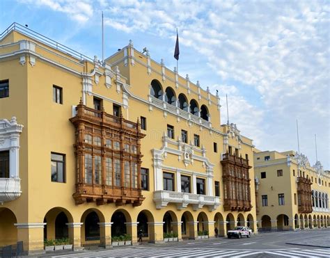
[{"label": "grey paved road with white crosswalk stripes", "polygon": [[[289,245],[288,242],[330,243],[330,229],[258,234],[250,239],[205,239],[129,248],[85,251],[53,257],[330,257],[330,248]],[[316,241],[313,241],[316,239]]]}]

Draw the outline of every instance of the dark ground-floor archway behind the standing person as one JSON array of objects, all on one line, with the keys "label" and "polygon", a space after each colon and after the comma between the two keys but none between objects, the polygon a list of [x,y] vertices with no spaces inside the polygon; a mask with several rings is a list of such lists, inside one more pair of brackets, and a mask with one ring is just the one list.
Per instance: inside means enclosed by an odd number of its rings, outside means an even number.
[{"label": "dark ground-floor archway behind the standing person", "polygon": [[155,241],[155,225],[152,225],[155,222],[152,213],[147,210],[140,211],[137,222],[137,232],[139,234],[140,229],[142,229],[143,241]]}]

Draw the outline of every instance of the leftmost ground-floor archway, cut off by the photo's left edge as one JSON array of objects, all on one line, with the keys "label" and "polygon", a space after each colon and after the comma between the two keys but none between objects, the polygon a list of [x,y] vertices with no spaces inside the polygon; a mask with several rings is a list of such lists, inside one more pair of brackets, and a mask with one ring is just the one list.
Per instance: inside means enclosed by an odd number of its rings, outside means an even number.
[{"label": "leftmost ground-floor archway, cut off by the photo's left edge", "polygon": [[17,219],[13,211],[0,208],[0,246],[13,245],[17,242]]}]

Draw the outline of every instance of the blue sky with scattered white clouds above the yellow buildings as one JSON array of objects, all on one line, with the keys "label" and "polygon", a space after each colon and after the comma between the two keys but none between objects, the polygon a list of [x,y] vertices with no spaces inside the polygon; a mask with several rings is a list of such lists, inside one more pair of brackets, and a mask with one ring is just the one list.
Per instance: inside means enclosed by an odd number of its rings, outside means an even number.
[{"label": "blue sky with scattered white clouds above the yellow buildings", "polygon": [[330,2],[2,0],[0,31],[12,22],[86,56],[104,56],[133,40],[170,69],[176,28],[179,73],[221,97],[229,120],[259,150],[298,149],[330,169]]}]

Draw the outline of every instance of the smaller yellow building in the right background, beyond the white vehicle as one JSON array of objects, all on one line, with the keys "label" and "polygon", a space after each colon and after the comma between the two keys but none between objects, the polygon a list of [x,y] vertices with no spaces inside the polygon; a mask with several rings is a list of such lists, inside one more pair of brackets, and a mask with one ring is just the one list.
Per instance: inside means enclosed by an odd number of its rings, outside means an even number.
[{"label": "smaller yellow building in the right background, beyond the white vehicle", "polygon": [[256,152],[259,231],[330,227],[330,172],[297,152]]}]

